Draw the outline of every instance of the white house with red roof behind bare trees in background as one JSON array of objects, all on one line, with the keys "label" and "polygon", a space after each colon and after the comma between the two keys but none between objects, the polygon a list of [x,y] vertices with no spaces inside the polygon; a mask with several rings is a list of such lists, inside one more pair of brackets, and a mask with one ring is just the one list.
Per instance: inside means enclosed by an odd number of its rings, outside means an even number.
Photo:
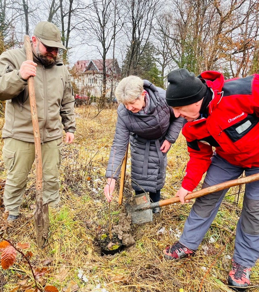
[{"label": "white house with red roof behind bare trees in background", "polygon": [[[111,87],[114,90],[121,79],[121,70],[117,59],[106,59],[106,97],[110,99]],[[103,60],[78,60],[73,67],[73,81],[78,88],[78,94],[93,96],[102,95]],[[112,97],[112,98],[113,98]]]}]

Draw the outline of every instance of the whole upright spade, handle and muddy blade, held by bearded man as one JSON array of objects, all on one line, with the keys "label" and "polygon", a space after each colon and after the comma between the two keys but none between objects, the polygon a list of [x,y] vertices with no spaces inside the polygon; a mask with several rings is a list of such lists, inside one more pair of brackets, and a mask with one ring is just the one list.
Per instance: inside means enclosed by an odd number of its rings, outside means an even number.
[{"label": "whole upright spade, handle and muddy blade, held by bearded man", "polygon": [[[24,36],[24,44],[26,48],[26,59],[33,61],[30,38],[27,35]],[[48,203],[43,204],[42,198],[42,155],[33,76],[28,78],[28,89],[32,115],[36,164],[36,207],[34,213],[34,225],[36,230],[36,241],[38,246],[41,248],[45,244],[49,233],[49,207]]]}]

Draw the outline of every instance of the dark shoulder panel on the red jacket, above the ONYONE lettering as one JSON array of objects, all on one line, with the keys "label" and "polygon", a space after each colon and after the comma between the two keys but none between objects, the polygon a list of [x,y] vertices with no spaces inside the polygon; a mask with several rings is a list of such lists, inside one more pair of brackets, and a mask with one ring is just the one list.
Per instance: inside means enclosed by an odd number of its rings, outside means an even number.
[{"label": "dark shoulder panel on the red jacket, above the ONYONE lettering", "polygon": [[235,94],[252,94],[252,81],[254,75],[238,78],[234,80],[229,80],[224,83],[222,91],[224,91],[223,96],[235,95]]}]

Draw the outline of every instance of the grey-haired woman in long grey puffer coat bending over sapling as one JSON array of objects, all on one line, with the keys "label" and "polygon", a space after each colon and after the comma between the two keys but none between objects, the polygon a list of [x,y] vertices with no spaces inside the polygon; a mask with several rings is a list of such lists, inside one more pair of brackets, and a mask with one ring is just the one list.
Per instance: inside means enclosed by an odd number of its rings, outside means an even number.
[{"label": "grey-haired woman in long grey puffer coat bending over sapling", "polygon": [[122,79],[115,96],[120,105],[104,194],[111,201],[129,142],[132,188],[136,194],[149,192],[151,201],[157,202],[165,183],[166,154],[179,135],[183,119],[175,118],[165,102],[164,89],[137,76]]}]

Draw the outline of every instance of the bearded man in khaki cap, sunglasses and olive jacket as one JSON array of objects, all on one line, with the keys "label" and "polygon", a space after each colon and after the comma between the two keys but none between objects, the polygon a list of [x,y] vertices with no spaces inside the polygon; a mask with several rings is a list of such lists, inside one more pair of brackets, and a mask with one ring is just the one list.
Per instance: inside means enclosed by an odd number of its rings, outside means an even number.
[{"label": "bearded man in khaki cap, sunglasses and olive jacket", "polygon": [[34,76],[41,138],[43,201],[53,208],[58,206],[62,124],[65,142],[72,143],[75,132],[75,99],[70,74],[58,56],[59,49],[65,49],[59,29],[42,21],[32,36],[33,61],[26,60],[25,46],[0,56],[0,100],[6,100],[2,138],[3,159],[8,169],[4,190],[8,221],[18,218],[28,173],[35,159],[27,82],[30,76]]}]

